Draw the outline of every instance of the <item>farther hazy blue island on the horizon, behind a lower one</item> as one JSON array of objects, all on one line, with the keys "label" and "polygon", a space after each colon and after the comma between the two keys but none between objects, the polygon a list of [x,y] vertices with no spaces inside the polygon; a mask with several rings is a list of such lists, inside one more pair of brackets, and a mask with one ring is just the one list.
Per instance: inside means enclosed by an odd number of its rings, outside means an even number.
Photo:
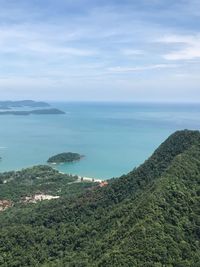
[{"label": "farther hazy blue island on the horizon, behind a lower one", "polygon": [[46,102],[34,101],[34,100],[19,100],[19,101],[0,101],[0,109],[12,109],[22,107],[49,107],[50,105]]}]

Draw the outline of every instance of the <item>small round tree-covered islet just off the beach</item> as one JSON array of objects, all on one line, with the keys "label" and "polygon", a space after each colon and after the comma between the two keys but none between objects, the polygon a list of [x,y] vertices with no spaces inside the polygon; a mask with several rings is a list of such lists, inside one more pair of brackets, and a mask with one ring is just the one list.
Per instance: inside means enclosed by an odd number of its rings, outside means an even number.
[{"label": "small round tree-covered islet just off the beach", "polygon": [[72,152],[64,152],[57,154],[55,156],[50,157],[47,162],[48,163],[66,163],[66,162],[73,162],[80,160],[83,157],[83,155],[80,155],[78,153],[72,153]]}]

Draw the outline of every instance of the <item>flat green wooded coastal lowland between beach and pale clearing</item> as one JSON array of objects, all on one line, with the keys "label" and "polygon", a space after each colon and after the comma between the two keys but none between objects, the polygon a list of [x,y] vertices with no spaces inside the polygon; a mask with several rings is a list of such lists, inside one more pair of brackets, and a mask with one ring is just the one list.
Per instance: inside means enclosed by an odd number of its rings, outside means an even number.
[{"label": "flat green wooded coastal lowland between beach and pale clearing", "polygon": [[37,193],[68,197],[94,186],[94,183],[77,183],[77,178],[59,173],[46,165],[1,173],[0,199],[17,202],[22,197]]}]

